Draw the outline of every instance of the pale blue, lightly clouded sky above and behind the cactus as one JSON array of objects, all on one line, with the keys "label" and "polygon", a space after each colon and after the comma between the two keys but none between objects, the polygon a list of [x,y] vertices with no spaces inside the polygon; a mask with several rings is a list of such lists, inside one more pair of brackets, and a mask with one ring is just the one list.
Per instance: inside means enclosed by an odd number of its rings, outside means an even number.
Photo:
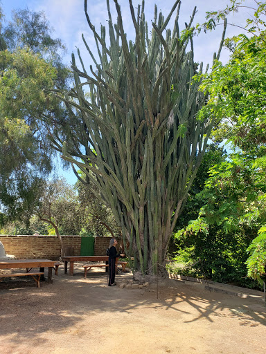
[{"label": "pale blue, lightly clouded sky above and behind the cactus", "polygon": [[[64,62],[69,64],[71,62],[71,53],[76,55],[77,48],[80,49],[82,60],[87,68],[93,64],[87,53],[87,49],[82,41],[82,34],[85,36],[87,44],[91,51],[95,51],[94,35],[92,34],[87,24],[87,19],[84,12],[84,0],[0,0],[3,14],[6,21],[9,21],[12,16],[13,9],[24,9],[44,11],[51,27],[54,29],[53,37],[60,38],[62,43],[67,47],[67,54],[64,57]],[[107,7],[106,0],[88,0],[88,13],[92,24],[96,30],[100,28],[100,24],[107,25]],[[111,12],[113,15],[113,22],[116,21],[116,10],[114,1],[109,0]],[[127,37],[134,39],[134,30],[132,19],[130,15],[130,7],[128,0],[118,0],[121,5],[121,12],[123,15],[123,24]],[[136,7],[141,0],[132,0],[134,7]],[[151,21],[154,17],[154,3],[157,4],[158,10],[162,10],[165,18],[168,16],[175,0],[145,0],[145,19],[148,21],[148,28],[152,28]],[[197,6],[197,13],[195,15],[194,24],[202,24],[205,20],[206,11],[224,9],[229,0],[184,0],[181,1],[181,12],[179,17],[179,28],[184,29],[185,22],[190,21],[190,15],[195,6]],[[246,6],[254,6],[254,0],[246,0]],[[229,16],[228,23],[237,26],[245,26],[245,19],[251,17],[252,10],[242,8],[236,15]],[[172,16],[175,18],[175,13]],[[173,21],[170,22],[168,28],[172,29]],[[238,35],[240,28],[236,26],[227,27],[227,37]],[[203,62],[204,67],[206,64],[211,64],[213,53],[218,51],[220,45],[220,38],[222,35],[222,26],[218,26],[214,31],[205,34],[202,32],[199,36],[195,37],[194,52],[195,61]],[[220,60],[226,64],[229,59],[229,52],[224,49]],[[89,70],[88,70],[89,71]],[[76,176],[72,171],[63,171],[58,162],[58,174],[67,178],[71,184],[76,182]]]}]

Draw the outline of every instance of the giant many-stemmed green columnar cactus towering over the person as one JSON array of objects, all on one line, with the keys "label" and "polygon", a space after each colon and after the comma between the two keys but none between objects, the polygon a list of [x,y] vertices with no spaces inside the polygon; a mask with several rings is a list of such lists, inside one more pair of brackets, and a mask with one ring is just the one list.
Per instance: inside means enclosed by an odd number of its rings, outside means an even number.
[{"label": "giant many-stemmed green columnar cactus towering over the person", "polygon": [[[88,74],[76,66],[75,87],[56,93],[76,120],[76,131],[63,147],[63,158],[87,176],[88,188],[100,190],[121,225],[127,254],[143,274],[157,272],[164,265],[168,242],[188,190],[202,160],[211,133],[211,117],[197,118],[206,102],[193,80],[202,72],[193,61],[192,22],[196,12],[179,32],[180,1],[165,19],[155,6],[151,37],[144,15],[144,1],[134,12],[129,0],[135,41],[127,41],[118,1],[113,24],[109,16],[109,42],[105,27],[98,34],[91,24],[85,0],[85,15],[94,33],[99,62],[82,36],[94,60]],[[166,30],[177,10],[175,26]],[[190,45],[190,50],[186,48]],[[85,94],[85,88],[89,94]],[[88,98],[89,97],[89,98]],[[75,124],[74,124],[75,125]],[[75,170],[75,168],[73,167]],[[127,244],[128,244],[127,243]],[[163,267],[159,269],[163,273]]]}]

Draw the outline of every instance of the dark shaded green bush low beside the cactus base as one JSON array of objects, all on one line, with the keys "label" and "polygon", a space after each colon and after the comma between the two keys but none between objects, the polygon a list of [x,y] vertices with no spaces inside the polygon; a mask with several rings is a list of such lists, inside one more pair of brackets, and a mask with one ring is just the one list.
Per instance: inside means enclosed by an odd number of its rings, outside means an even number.
[{"label": "dark shaded green bush low beside the cactus base", "polygon": [[257,284],[247,278],[245,262],[247,247],[255,235],[251,229],[226,233],[213,225],[209,225],[207,232],[198,232],[197,235],[189,232],[183,236],[176,234],[178,249],[175,260],[182,265],[175,272],[254,288]]}]

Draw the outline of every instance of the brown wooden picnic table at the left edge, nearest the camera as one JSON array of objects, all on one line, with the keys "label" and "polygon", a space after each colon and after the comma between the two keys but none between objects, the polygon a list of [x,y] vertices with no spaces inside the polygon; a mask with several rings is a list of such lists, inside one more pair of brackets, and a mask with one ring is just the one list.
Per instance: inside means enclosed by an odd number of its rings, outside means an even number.
[{"label": "brown wooden picnic table at the left edge, nearest the camera", "polygon": [[[0,261],[0,269],[27,269],[39,268],[39,272],[44,272],[44,268],[48,268],[47,283],[53,283],[52,270],[55,261],[50,259],[7,259],[6,261]],[[12,276],[12,275],[11,275]]]}]

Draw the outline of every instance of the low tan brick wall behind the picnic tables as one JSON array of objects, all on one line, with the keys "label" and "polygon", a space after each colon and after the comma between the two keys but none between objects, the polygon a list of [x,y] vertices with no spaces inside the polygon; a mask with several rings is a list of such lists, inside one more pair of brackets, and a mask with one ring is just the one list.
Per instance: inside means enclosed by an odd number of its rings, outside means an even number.
[{"label": "low tan brick wall behind the picnic tables", "polygon": [[[80,256],[80,236],[62,236],[64,245],[73,248],[73,255]],[[13,254],[17,259],[52,259],[60,258],[61,246],[57,236],[34,235],[0,235],[0,241],[7,254]],[[109,247],[110,237],[96,237],[94,254],[103,255]],[[118,247],[121,240],[118,239]]]}]

